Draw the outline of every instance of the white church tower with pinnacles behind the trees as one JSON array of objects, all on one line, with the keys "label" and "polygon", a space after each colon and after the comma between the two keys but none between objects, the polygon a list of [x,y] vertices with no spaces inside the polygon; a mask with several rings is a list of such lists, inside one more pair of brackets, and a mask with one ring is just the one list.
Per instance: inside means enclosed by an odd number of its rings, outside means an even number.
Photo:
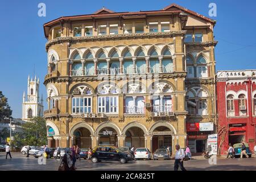
[{"label": "white church tower with pinnacles behind the trees", "polygon": [[25,92],[23,93],[22,102],[22,120],[30,121],[33,117],[43,117],[43,95],[41,100],[39,100],[39,78],[33,80],[30,76],[27,78],[27,97]]}]

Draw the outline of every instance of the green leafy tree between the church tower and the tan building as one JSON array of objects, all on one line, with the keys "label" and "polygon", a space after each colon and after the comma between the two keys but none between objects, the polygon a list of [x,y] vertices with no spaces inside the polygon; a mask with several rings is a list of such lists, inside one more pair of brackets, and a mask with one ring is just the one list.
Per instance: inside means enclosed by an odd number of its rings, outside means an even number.
[{"label": "green leafy tree between the church tower and the tan building", "polygon": [[47,143],[46,120],[42,117],[32,118],[23,124],[24,144],[42,146]]}]

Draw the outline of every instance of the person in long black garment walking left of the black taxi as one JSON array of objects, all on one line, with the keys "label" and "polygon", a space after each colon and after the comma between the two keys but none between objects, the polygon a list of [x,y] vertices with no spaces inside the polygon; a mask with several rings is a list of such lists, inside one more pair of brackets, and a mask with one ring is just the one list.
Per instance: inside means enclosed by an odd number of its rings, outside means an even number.
[{"label": "person in long black garment walking left of the black taxi", "polygon": [[59,171],[75,171],[75,167],[73,166],[73,157],[72,157],[71,148],[65,149],[65,154],[60,162]]}]

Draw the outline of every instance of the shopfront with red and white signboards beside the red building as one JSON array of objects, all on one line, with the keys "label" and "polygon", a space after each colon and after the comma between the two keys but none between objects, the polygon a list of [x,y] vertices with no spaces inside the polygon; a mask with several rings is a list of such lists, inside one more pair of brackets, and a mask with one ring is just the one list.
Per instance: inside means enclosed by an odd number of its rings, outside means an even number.
[{"label": "shopfront with red and white signboards beside the red building", "polygon": [[187,144],[191,153],[207,150],[208,135],[213,134],[213,123],[187,123]]}]

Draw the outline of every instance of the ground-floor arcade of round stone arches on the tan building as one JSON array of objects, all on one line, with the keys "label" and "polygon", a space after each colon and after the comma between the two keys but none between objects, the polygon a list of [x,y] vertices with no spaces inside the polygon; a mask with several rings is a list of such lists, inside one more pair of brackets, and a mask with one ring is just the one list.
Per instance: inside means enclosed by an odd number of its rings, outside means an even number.
[{"label": "ground-floor arcade of round stone arches on the tan building", "polygon": [[[108,122],[110,123],[110,122]],[[71,127],[69,136],[57,136],[53,127],[47,127],[48,145],[50,147],[66,147],[78,144],[81,148],[108,145],[116,147],[147,147],[154,152],[157,148],[170,147],[174,151],[175,144],[183,146],[186,135],[177,135],[176,129],[168,122],[155,122],[150,127],[141,123],[129,124],[121,130],[119,126],[106,123],[95,129],[85,122]],[[168,124],[167,124],[168,123]],[[56,130],[56,128],[55,128]],[[61,139],[61,141],[60,141]]]}]

